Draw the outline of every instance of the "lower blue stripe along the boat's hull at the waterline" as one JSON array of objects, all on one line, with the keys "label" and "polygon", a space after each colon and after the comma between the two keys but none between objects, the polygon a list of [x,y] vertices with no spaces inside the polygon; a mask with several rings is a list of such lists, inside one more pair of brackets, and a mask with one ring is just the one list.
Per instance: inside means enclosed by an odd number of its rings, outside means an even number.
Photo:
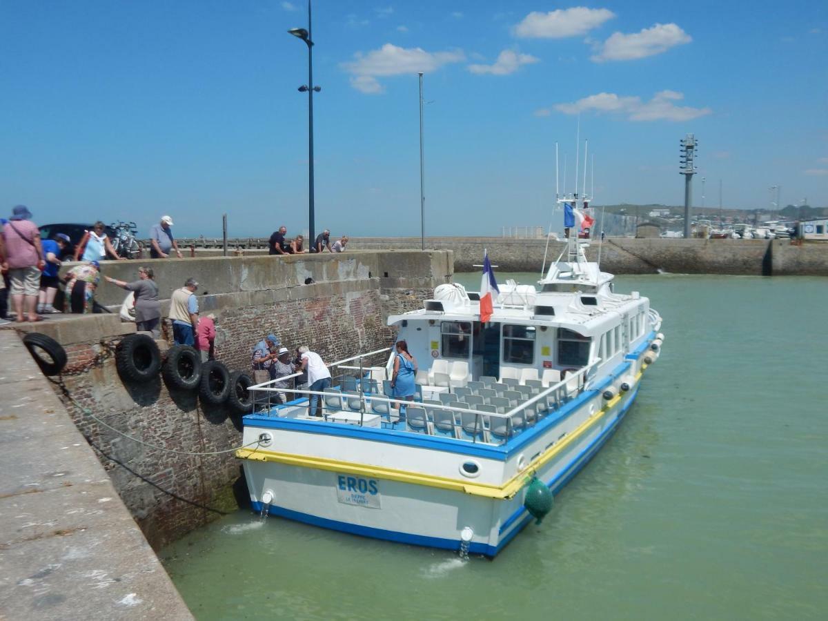
[{"label": "lower blue stripe along the boat's hull at the waterline", "polygon": [[[633,392],[632,397],[630,398],[627,405],[623,408],[619,415],[613,421],[613,424],[609,426],[604,433],[601,434],[598,438],[595,438],[590,446],[586,447],[585,450],[581,451],[579,455],[575,457],[570,462],[570,465],[567,466],[567,469],[561,473],[556,479],[552,479],[550,483],[547,484],[549,488],[552,489],[552,492],[556,492],[560,490],[564,485],[566,485],[575,474],[595,455],[596,452],[604,445],[604,442],[609,439],[612,435],[613,431],[615,431],[616,426],[618,425],[619,421],[623,418],[624,414],[627,412],[629,407],[633,404],[636,395],[638,394],[638,388],[636,388],[635,392]],[[253,509],[257,512],[262,511],[262,503],[253,502]],[[311,526],[318,526],[323,528],[328,528],[330,530],[340,531],[340,532],[349,532],[353,535],[360,535],[362,537],[373,537],[374,539],[384,539],[389,542],[397,542],[397,543],[407,543],[413,546],[426,546],[426,547],[434,547],[440,548],[443,550],[460,550],[460,540],[459,539],[445,539],[443,537],[426,537],[424,535],[414,535],[407,532],[397,532],[397,531],[389,531],[384,528],[373,528],[362,526],[359,524],[351,524],[349,522],[339,522],[337,520],[331,520],[327,517],[318,517],[315,515],[311,515],[310,513],[301,513],[299,511],[293,511],[292,509],[286,509],[282,507],[278,507],[276,505],[271,505],[268,508],[268,512],[271,515],[276,515],[279,517],[285,517],[286,519],[294,520],[295,522],[303,522],[306,524],[310,524]],[[528,515],[526,509],[521,508],[516,513],[514,513],[511,517],[508,518],[506,522],[503,523],[503,526],[500,528],[500,532],[503,533],[509,526],[513,524],[516,520],[520,520],[520,523],[517,527],[513,528],[511,532],[508,532],[504,537],[500,539],[497,546],[490,546],[486,543],[479,543],[479,542],[472,542],[469,546],[469,553],[471,554],[481,554],[483,556],[495,556],[498,551],[503,550],[503,547],[508,544],[512,540],[512,538],[520,532],[523,527],[525,527],[529,522],[532,521],[532,516]]]}]

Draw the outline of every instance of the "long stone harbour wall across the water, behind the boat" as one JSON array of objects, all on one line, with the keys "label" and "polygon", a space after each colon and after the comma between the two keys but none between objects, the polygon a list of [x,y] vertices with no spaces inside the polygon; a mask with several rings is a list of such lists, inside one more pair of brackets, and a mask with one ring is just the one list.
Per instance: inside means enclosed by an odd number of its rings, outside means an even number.
[{"label": "long stone harbour wall across the water, behind the boat", "polygon": [[[351,238],[349,251],[420,248],[420,238]],[[451,250],[456,272],[477,272],[484,249],[502,272],[540,272],[565,248],[545,239],[427,237],[426,248]],[[614,274],[735,274],[828,276],[828,243],[793,245],[787,239],[633,239],[590,241],[586,256]]]}]

